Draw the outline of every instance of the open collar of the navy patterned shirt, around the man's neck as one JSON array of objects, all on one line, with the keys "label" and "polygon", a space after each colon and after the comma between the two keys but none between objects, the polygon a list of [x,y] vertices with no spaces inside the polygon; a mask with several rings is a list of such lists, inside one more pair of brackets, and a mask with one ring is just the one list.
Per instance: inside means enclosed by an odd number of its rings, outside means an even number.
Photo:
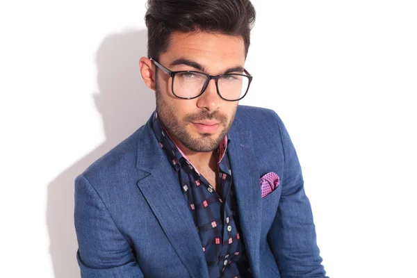
[{"label": "open collar of the navy patterned shirt, around the man's neck", "polygon": [[[184,154],[181,151],[181,149],[179,149],[179,147],[174,143],[172,138],[170,138],[170,135],[167,133],[162,122],[159,120],[158,113],[156,111],[152,116],[152,129],[155,133],[156,139],[159,142],[159,145],[164,149],[168,158],[170,158],[170,163],[176,171],[178,171],[181,167],[179,165],[179,162],[181,162],[181,158],[183,158],[185,159],[186,163],[188,163],[188,165],[193,166],[195,171],[199,174],[197,168],[193,165],[193,163],[191,163],[186,154]],[[226,154],[227,152],[227,145],[229,145],[229,142],[230,139],[228,139],[227,136],[224,136],[222,142],[220,142],[220,145],[217,149],[217,152],[219,154],[218,164],[220,164],[224,159],[224,154]]]}]

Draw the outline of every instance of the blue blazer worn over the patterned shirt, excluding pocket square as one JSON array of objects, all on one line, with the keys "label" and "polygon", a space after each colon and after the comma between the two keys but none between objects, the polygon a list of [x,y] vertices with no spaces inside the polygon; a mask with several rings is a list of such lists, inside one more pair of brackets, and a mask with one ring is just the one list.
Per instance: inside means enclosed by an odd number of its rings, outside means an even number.
[{"label": "blue blazer worn over the patterned shirt, excluding pocket square", "polygon": [[[193,218],[151,120],[75,182],[82,277],[204,277]],[[254,277],[325,277],[300,163],[278,115],[238,106],[227,147]],[[260,178],[280,184],[261,198]]]}]

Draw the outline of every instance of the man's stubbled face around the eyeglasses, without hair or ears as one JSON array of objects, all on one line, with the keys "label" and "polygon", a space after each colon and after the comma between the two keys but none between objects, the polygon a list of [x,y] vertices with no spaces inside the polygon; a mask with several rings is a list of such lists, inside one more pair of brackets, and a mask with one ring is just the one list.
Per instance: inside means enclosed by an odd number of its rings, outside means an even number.
[{"label": "man's stubbled face around the eyeglasses, without hair or ears", "polygon": [[[178,63],[179,59],[197,65]],[[174,72],[193,70],[224,74],[231,68],[244,67],[245,44],[241,37],[229,35],[172,33],[170,47],[160,55],[158,62]],[[214,80],[203,95],[179,99],[172,94],[172,78],[168,74],[158,69],[155,79],[156,111],[172,140],[193,152],[217,149],[234,121],[238,101],[221,99]]]}]

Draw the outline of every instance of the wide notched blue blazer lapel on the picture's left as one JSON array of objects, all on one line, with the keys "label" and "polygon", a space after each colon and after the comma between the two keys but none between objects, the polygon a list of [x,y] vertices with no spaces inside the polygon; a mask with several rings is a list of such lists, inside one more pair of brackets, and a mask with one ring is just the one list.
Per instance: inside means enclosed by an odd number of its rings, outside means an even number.
[{"label": "wide notched blue blazer lapel on the picture's left", "polygon": [[190,276],[208,278],[206,258],[194,220],[178,179],[165,158],[163,149],[159,147],[149,122],[140,137],[142,138],[138,138],[138,144],[145,142],[147,145],[138,146],[136,165],[142,172],[142,179],[137,183],[138,188]]}]

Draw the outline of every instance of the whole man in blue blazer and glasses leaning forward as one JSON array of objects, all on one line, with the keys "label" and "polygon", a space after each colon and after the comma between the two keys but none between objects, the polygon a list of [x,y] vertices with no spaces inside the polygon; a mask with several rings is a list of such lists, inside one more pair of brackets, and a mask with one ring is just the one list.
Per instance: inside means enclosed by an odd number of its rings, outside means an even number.
[{"label": "whole man in blue blazer and glasses leaning forward", "polygon": [[82,277],[325,277],[295,149],[238,106],[249,0],[149,0],[145,126],[76,179]]}]

